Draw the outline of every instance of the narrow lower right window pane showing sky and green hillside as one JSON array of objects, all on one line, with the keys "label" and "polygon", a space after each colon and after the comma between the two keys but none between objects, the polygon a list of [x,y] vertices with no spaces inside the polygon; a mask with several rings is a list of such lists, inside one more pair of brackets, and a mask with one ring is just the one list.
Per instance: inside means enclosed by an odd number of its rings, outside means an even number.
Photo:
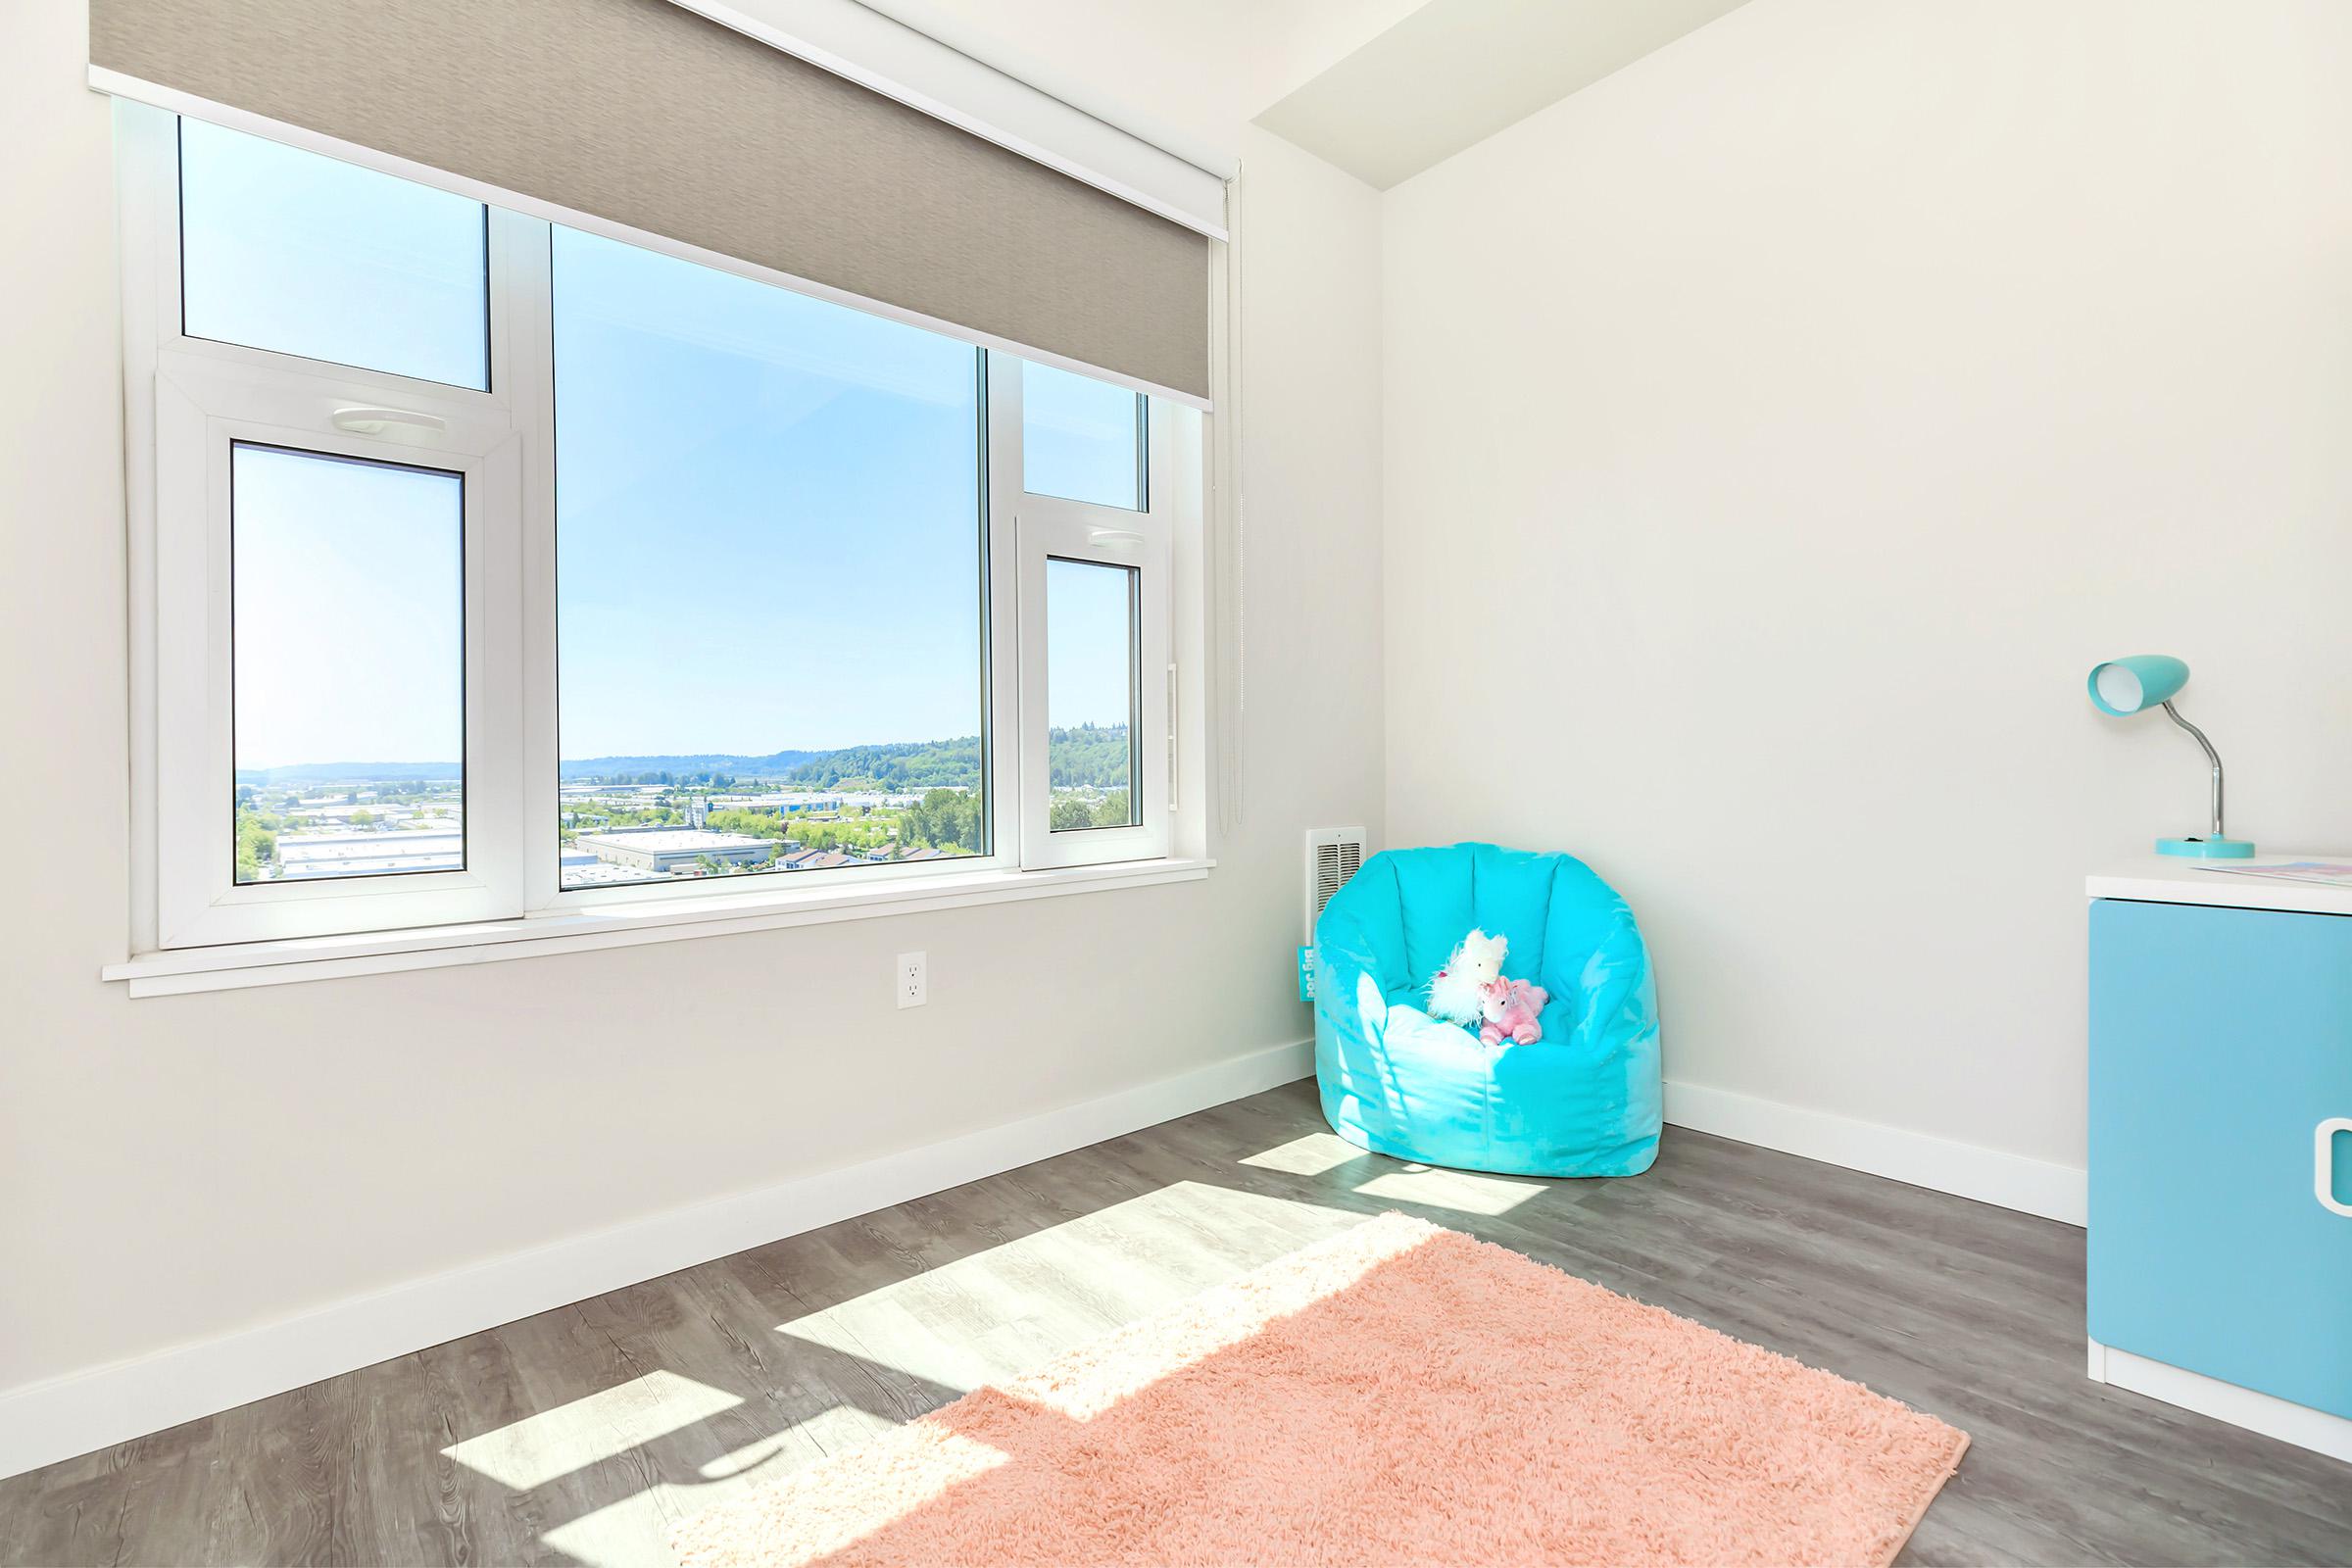
[{"label": "narrow lower right window pane showing sky and green hillside", "polygon": [[1134,827],[1136,590],[1134,567],[1044,564],[1047,827]]}]

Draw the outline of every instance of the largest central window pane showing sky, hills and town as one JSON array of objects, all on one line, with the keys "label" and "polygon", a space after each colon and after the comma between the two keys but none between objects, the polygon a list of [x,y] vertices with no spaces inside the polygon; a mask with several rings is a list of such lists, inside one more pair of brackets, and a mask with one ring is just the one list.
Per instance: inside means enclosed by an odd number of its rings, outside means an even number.
[{"label": "largest central window pane showing sky, hills and town", "polygon": [[978,350],[555,230],[562,884],[985,853]]}]

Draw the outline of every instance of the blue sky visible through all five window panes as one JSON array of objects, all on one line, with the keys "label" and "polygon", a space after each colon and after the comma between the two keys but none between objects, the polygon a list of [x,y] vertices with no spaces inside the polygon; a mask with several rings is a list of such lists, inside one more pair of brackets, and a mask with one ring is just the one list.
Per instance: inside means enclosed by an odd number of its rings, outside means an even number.
[{"label": "blue sky visible through all five window panes", "polygon": [[[475,202],[198,122],[183,155],[193,334],[482,381]],[[976,350],[564,228],[553,247],[562,755],[976,733]],[[1134,395],[1040,367],[1025,393],[1030,484],[1134,505]],[[367,475],[240,465],[266,494],[238,498],[238,766],[456,757],[452,505]],[[1056,724],[1124,722],[1124,614],[1051,592]]]}]

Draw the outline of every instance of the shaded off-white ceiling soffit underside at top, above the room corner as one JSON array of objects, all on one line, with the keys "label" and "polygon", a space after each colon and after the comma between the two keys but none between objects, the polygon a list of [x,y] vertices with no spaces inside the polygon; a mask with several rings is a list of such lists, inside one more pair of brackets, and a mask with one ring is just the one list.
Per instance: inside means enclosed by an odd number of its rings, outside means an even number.
[{"label": "shaded off-white ceiling soffit underside at top, above the room corner", "polygon": [[1740,2],[1428,0],[1256,122],[1388,190]]}]

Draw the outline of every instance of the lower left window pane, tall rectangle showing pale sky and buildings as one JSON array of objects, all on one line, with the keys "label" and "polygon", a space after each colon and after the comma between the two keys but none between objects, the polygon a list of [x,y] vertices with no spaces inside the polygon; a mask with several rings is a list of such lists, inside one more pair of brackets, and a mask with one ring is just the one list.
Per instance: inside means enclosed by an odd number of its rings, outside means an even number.
[{"label": "lower left window pane, tall rectangle showing pale sky and buildings", "polygon": [[238,882],[466,865],[466,480],[230,454]]}]

